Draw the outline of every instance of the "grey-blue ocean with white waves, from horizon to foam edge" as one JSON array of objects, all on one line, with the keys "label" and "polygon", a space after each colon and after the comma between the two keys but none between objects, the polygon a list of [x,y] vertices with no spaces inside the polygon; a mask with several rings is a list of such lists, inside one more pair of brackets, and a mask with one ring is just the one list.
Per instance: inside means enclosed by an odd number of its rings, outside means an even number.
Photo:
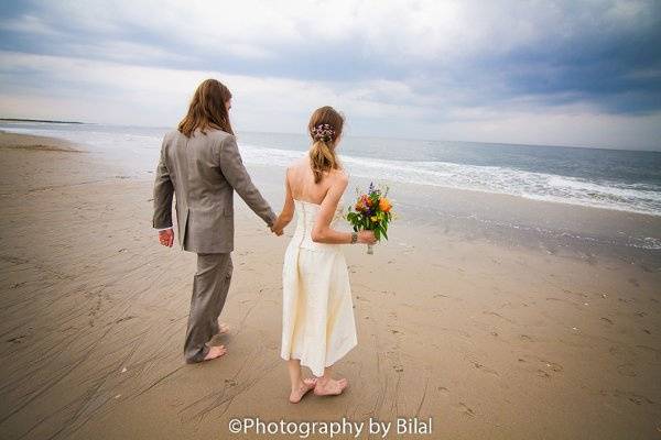
[{"label": "grey-blue ocean with white waves, from horizon to foam edge", "polygon": [[[110,153],[130,172],[152,170],[167,129],[0,123]],[[303,134],[238,133],[248,165],[286,166],[308,147]],[[347,136],[340,158],[351,176],[506,194],[661,216],[661,153],[562,146]]]}]

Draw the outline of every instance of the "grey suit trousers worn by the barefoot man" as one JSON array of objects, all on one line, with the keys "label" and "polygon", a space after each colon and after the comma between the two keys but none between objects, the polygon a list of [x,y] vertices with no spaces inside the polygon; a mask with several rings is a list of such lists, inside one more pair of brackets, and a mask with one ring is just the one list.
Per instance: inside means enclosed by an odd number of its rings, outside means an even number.
[{"label": "grey suit trousers worn by the barefoot man", "polygon": [[229,253],[197,254],[197,272],[193,278],[191,314],[184,344],[187,363],[202,362],[209,351],[206,342],[219,331],[218,317],[225,306],[231,272]]}]

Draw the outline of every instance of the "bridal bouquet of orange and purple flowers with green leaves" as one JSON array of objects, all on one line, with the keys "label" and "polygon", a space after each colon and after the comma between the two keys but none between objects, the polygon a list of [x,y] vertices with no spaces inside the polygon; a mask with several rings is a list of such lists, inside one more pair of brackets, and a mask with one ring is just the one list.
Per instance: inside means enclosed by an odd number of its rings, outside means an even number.
[{"label": "bridal bouquet of orange and purple flowers with green leaves", "polygon": [[[356,205],[349,207],[347,221],[354,227],[354,231],[360,230],[375,231],[377,240],[383,237],[388,240],[388,223],[392,220],[392,205],[388,200],[388,187],[376,188],[372,183],[369,184],[367,194],[360,194],[357,189],[358,199]],[[373,254],[371,244],[367,245],[367,253]]]}]

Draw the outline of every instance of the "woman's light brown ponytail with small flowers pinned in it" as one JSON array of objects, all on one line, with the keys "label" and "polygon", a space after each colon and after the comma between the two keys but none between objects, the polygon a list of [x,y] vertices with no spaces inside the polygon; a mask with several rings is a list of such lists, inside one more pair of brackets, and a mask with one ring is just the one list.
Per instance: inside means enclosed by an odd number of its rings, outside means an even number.
[{"label": "woman's light brown ponytail with small flowers pinned in it", "polygon": [[322,180],[324,173],[340,168],[335,155],[335,145],[342,135],[343,125],[344,117],[329,106],[316,109],[310,117],[307,124],[307,132],[312,138],[310,164],[315,184]]}]

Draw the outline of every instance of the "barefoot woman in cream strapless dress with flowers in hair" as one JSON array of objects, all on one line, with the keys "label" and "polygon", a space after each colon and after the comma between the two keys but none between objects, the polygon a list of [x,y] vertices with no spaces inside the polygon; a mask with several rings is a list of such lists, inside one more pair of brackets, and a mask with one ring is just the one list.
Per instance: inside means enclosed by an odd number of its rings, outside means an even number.
[{"label": "barefoot woman in cream strapless dress with flowers in hair", "polygon": [[[310,153],[286,169],[285,200],[274,232],[296,212],[296,230],[282,268],[281,358],[288,361],[291,403],[314,389],[321,396],[338,395],[346,378],[333,378],[330,366],[357,344],[354,305],[342,244],[375,243],[372,231],[342,232],[333,228],[348,177],[335,150],[344,118],[322,107],[310,119]],[[303,378],[301,365],[315,377]]]}]

